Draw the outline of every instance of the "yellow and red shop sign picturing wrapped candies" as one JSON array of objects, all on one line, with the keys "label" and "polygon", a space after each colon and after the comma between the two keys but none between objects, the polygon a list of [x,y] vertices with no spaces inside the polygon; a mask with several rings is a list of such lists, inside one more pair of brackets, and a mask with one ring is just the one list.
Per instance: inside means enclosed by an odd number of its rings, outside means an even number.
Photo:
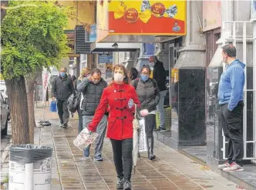
[{"label": "yellow and red shop sign picturing wrapped candies", "polygon": [[108,12],[113,35],[186,35],[186,1],[111,1]]}]

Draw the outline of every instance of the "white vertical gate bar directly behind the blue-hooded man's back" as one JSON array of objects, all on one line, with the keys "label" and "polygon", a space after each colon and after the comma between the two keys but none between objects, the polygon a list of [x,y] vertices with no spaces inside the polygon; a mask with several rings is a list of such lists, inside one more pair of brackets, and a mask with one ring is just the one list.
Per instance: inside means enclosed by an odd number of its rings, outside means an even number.
[{"label": "white vertical gate bar directly behind the blue-hooded man's back", "polygon": [[244,68],[244,75],[245,75],[245,82],[244,82],[244,110],[243,110],[243,140],[244,140],[244,158],[246,158],[246,147],[247,147],[247,80],[246,80],[246,22],[243,24],[243,62],[245,64]]}]

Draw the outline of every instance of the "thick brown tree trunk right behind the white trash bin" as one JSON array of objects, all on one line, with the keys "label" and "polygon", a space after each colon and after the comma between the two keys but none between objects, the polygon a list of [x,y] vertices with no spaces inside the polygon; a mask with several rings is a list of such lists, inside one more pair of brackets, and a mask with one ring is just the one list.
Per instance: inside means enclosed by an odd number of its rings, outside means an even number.
[{"label": "thick brown tree trunk right behind the white trash bin", "polygon": [[12,116],[12,144],[29,143],[28,102],[25,92],[25,78],[5,79]]}]

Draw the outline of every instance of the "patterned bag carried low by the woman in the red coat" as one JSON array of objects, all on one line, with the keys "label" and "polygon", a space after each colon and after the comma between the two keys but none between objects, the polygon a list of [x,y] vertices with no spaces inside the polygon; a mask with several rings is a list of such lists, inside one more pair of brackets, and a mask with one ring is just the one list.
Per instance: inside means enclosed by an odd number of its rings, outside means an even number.
[{"label": "patterned bag carried low by the woman in the red coat", "polygon": [[82,132],[74,140],[74,145],[83,151],[84,148],[93,144],[98,134],[96,132],[89,132],[87,128],[84,128]]}]

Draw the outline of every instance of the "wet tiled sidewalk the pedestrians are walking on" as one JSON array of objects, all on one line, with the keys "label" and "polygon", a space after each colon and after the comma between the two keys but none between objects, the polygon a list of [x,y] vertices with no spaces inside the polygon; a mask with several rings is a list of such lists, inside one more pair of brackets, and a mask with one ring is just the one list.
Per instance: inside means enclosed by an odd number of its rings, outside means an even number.
[{"label": "wet tiled sidewalk the pedestrians are walking on", "polygon": [[[43,109],[36,109],[36,118]],[[72,118],[67,129],[59,128],[57,114],[45,112],[52,126],[35,129],[35,143],[54,147],[52,156],[52,190],[113,190],[116,189],[116,172],[113,165],[113,152],[109,139],[105,139],[103,162],[91,158],[83,160],[83,152],[73,145],[77,135],[77,117]],[[132,177],[134,190],[197,190],[197,189],[237,189],[233,182],[211,172],[166,145],[156,142],[157,159],[150,161],[146,154],[141,154]],[[8,173],[8,161],[3,174]]]}]

